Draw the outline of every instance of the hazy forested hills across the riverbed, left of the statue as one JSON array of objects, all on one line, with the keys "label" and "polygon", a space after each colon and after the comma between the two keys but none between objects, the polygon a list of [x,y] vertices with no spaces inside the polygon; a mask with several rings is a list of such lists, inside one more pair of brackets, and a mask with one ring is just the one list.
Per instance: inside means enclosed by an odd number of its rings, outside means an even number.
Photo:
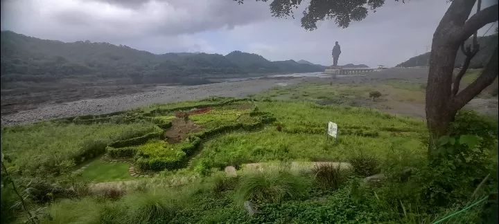
[{"label": "hazy forested hills across the riverbed, left of the statue", "polygon": [[292,60],[270,62],[261,55],[240,51],[225,56],[206,53],[155,55],[109,43],[64,43],[1,31],[1,88],[54,83],[198,82],[216,75],[316,71],[324,71],[324,66]]}]

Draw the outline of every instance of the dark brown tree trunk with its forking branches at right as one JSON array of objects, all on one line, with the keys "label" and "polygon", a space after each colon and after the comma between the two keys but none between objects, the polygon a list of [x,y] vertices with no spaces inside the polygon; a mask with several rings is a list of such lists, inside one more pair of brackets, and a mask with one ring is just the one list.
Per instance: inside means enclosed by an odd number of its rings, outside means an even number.
[{"label": "dark brown tree trunk with its forking branches at right", "polygon": [[[433,155],[439,137],[446,135],[449,124],[455,118],[457,111],[478,95],[483,88],[487,87],[484,84],[489,81],[489,76],[480,79],[480,82],[469,88],[469,91],[466,91],[468,89],[466,88],[456,96],[459,97],[459,102],[453,100],[454,96],[451,87],[455,58],[459,46],[471,37],[476,30],[490,22],[497,21],[498,5],[486,8],[468,19],[474,4],[475,1],[472,0],[452,1],[433,34],[426,88],[426,120],[430,131],[429,156]],[[493,68],[490,68],[487,74],[490,75],[491,72],[493,72]],[[477,93],[478,88],[482,89]],[[465,103],[463,104],[463,102]]]}]

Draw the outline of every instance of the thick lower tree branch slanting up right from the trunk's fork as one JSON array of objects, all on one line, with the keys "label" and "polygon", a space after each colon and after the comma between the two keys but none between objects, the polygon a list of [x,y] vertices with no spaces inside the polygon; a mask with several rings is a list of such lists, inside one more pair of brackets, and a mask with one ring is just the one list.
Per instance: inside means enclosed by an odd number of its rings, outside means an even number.
[{"label": "thick lower tree branch slanting up right from the trunk's fork", "polygon": [[496,50],[494,50],[492,57],[489,59],[487,66],[482,70],[482,73],[480,73],[480,76],[453,98],[453,102],[450,104],[450,109],[452,111],[462,109],[464,105],[473,100],[473,98],[480,94],[484,88],[487,88],[487,86],[490,86],[492,82],[496,80],[499,73],[499,66],[497,63],[499,60],[498,51],[498,46],[496,46]]}]

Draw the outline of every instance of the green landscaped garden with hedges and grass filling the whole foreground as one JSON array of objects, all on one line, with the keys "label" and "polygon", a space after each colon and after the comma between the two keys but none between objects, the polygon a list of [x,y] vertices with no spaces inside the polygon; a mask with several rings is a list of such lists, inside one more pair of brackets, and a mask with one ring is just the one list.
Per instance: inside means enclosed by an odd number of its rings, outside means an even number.
[{"label": "green landscaped garden with hedges and grass filling the whole foreground", "polygon": [[262,97],[6,127],[26,206],[2,179],[2,223],[432,223],[468,205],[446,221],[487,221],[497,125],[462,111],[450,133],[430,161],[423,120]]}]

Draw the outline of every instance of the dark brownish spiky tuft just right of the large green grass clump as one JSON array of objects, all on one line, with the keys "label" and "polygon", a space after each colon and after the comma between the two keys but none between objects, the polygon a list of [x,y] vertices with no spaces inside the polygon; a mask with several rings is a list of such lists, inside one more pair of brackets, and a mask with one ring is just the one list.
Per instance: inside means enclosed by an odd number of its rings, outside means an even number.
[{"label": "dark brownish spiky tuft just right of the large green grass clump", "polygon": [[315,165],[312,169],[314,174],[314,179],[321,187],[338,189],[341,183],[347,177],[346,171],[340,169],[340,164],[332,165],[328,163],[322,163]]}]

